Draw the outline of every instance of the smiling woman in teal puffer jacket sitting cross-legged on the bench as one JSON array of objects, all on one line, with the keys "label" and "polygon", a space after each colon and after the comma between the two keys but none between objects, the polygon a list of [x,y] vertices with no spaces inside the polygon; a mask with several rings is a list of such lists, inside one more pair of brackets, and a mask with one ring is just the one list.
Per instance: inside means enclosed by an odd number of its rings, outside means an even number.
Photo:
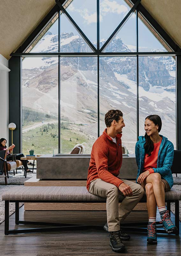
[{"label": "smiling woman in teal puffer jacket sitting cross-legged on the bench", "polygon": [[165,206],[165,192],[173,186],[171,166],[174,147],[166,137],[159,135],[162,120],[158,115],[145,118],[145,136],[139,136],[136,143],[135,155],[138,165],[136,182],[146,190],[148,209],[148,244],[157,244],[156,236],[156,207],[160,213],[163,228],[167,233],[177,227],[170,219]]}]

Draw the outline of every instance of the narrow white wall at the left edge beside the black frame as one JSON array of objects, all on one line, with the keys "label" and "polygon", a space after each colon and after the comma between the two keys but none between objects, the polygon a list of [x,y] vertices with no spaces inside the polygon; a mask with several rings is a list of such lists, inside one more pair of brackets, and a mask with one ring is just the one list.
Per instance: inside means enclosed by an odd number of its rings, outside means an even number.
[{"label": "narrow white wall at the left edge beside the black frame", "polygon": [[7,145],[9,145],[9,71],[8,60],[0,54],[0,138],[6,138]]}]

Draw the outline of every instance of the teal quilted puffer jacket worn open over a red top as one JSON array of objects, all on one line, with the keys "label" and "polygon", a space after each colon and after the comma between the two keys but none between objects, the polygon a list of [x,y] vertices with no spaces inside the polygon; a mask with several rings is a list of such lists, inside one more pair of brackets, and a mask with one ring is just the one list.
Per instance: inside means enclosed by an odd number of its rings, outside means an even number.
[{"label": "teal quilted puffer jacket worn open over a red top", "polygon": [[[160,144],[160,149],[158,151],[158,160],[157,160],[157,168],[153,168],[154,172],[160,173],[163,179],[167,180],[170,188],[173,186],[173,176],[171,173],[171,166],[173,163],[173,155],[174,155],[174,146],[171,141],[169,141],[166,137],[160,135],[162,137],[162,142]],[[137,179],[143,171],[144,165],[144,157],[145,157],[145,149],[144,144],[146,142],[144,136],[139,136],[138,141],[135,146],[135,155],[136,155],[136,163],[138,165],[138,174]]]}]

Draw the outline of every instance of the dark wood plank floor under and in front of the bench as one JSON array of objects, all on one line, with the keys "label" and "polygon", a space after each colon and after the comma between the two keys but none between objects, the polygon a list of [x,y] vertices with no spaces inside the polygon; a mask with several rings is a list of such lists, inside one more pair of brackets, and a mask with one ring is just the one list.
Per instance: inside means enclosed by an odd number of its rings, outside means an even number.
[{"label": "dark wood plank floor under and in front of the bench", "polygon": [[[173,216],[172,216],[173,218]],[[103,211],[25,211],[20,208],[20,220],[48,221],[60,223],[105,224]],[[132,212],[127,221],[147,221],[147,212]],[[15,214],[10,217],[10,228],[14,228]],[[18,225],[20,228],[23,225]],[[29,228],[30,226],[25,226]],[[132,233],[125,241],[127,256],[164,255],[180,256],[180,236],[159,234],[157,245],[147,245],[146,233]],[[116,255],[109,246],[109,233],[104,230],[61,231],[4,236],[4,222],[0,224],[0,255],[13,256],[107,256]]]}]

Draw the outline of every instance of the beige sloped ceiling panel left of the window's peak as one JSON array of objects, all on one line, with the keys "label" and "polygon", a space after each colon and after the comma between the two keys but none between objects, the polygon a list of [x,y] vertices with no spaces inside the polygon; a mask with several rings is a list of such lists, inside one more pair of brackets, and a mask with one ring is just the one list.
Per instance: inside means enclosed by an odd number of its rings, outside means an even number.
[{"label": "beige sloped ceiling panel left of the window's peak", "polygon": [[0,0],[0,53],[9,60],[54,5],[55,0]]}]

